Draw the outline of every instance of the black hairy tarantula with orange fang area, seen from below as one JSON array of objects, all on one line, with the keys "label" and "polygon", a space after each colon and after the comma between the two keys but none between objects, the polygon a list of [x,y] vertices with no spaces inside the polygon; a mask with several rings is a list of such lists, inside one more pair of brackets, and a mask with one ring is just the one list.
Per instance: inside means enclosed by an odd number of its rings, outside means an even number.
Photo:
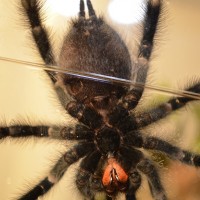
[{"label": "black hairy tarantula with orange fang area, seen from below", "polygon": [[[134,74],[136,82],[146,82],[162,0],[147,1],[143,36],[134,63],[121,37],[95,14],[90,0],[87,0],[88,18],[85,17],[85,3],[80,0],[79,16],[65,36],[58,62],[54,59],[49,36],[40,17],[42,5],[38,0],[21,0],[21,5],[38,51],[47,65],[127,80],[131,79],[132,69],[137,67]],[[131,111],[138,105],[143,87],[130,88],[128,85],[100,82],[67,73],[47,73],[56,86],[73,98],[65,103],[66,110],[78,121],[74,127],[60,129],[61,139],[77,143],[55,164],[51,175],[59,181],[68,167],[80,160],[75,182],[84,198],[94,199],[96,193],[104,192],[107,199],[115,199],[121,192],[125,194],[126,200],[136,200],[143,174],[148,180],[153,198],[167,200],[154,162],[141,150],[159,151],[170,159],[194,167],[200,166],[199,154],[142,134],[143,128],[184,107],[192,98],[172,98],[137,115]],[[188,87],[187,91],[200,93],[200,83]],[[45,126],[3,127],[0,128],[0,137],[51,137],[49,132],[49,127]],[[53,185],[47,177],[20,199],[35,200]]]}]

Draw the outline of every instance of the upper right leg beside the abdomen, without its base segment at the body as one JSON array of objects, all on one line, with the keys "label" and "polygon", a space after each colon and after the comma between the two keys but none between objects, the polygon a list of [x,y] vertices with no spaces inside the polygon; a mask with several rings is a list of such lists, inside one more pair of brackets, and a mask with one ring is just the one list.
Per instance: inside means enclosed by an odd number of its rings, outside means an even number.
[{"label": "upper right leg beside the abdomen, without its base segment at the body", "polygon": [[[136,83],[144,84],[147,78],[149,69],[148,61],[150,59],[154,46],[154,38],[157,31],[157,26],[161,13],[162,0],[149,0],[147,2],[146,14],[143,26],[143,37],[139,46],[138,53],[138,71],[136,74]],[[134,87],[122,99],[124,106],[129,110],[135,108],[142,96],[144,87]]]}]

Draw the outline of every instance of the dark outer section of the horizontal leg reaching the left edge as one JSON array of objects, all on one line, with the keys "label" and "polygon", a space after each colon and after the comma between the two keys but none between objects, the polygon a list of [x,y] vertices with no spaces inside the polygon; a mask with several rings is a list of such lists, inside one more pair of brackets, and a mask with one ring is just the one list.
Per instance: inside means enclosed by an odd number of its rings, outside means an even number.
[{"label": "dark outer section of the horizontal leg reaching the left edge", "polygon": [[11,137],[26,137],[34,135],[36,137],[48,136],[47,126],[10,126],[0,128],[0,139]]}]

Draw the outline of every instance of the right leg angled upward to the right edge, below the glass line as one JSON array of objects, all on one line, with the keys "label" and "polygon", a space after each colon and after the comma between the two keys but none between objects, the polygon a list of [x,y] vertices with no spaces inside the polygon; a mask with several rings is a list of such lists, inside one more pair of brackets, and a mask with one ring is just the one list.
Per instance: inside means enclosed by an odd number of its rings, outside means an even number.
[{"label": "right leg angled upward to the right edge, below the glass line", "polygon": [[[200,83],[188,88],[186,91],[200,94]],[[184,96],[183,93],[182,97],[173,98],[157,108],[147,112],[133,114],[130,114],[126,108],[118,105],[111,113],[109,122],[117,126],[123,133],[128,133],[129,131],[143,128],[153,122],[163,119],[173,111],[181,109],[187,103],[195,100],[196,99],[192,97]]]}]

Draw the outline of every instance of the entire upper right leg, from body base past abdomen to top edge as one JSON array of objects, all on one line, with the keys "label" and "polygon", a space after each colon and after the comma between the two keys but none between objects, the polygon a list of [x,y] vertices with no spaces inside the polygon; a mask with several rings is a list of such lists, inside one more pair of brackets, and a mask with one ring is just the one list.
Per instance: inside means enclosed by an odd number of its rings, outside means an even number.
[{"label": "entire upper right leg, from body base past abdomen to top edge", "polygon": [[[161,13],[161,2],[162,0],[153,1],[150,0],[147,3],[144,26],[143,26],[143,37],[140,42],[139,53],[138,53],[138,72],[136,74],[136,82],[137,83],[145,83],[147,72],[149,69],[148,61],[150,59],[153,45],[154,45],[154,37],[156,34],[159,17]],[[119,126],[119,129],[124,131],[127,130],[127,127],[120,127],[124,123],[122,121],[126,121],[126,126],[129,124],[128,130],[132,130],[136,128],[133,125],[133,120],[130,119],[129,112],[134,109],[141,96],[143,94],[144,87],[134,87],[131,89],[124,97],[122,97],[122,102],[120,102],[111,112],[109,122],[112,125]],[[120,123],[118,123],[120,122]],[[129,122],[129,123],[127,123]],[[127,131],[128,131],[127,130]]]}]

